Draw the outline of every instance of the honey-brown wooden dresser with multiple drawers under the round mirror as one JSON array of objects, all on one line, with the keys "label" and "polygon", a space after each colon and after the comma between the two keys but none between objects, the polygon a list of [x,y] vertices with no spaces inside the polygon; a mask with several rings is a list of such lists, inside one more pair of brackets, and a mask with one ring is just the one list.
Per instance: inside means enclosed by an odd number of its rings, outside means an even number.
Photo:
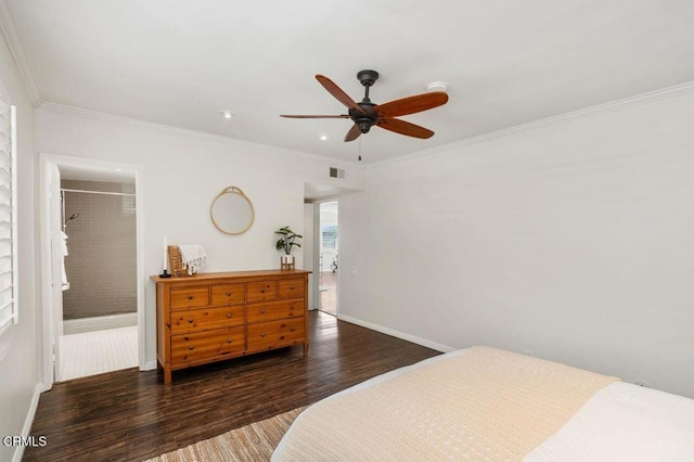
[{"label": "honey-brown wooden dresser with multiple drawers under the round mirror", "polygon": [[308,274],[261,270],[153,275],[156,356],[171,371],[243,355],[304,345],[308,349]]}]

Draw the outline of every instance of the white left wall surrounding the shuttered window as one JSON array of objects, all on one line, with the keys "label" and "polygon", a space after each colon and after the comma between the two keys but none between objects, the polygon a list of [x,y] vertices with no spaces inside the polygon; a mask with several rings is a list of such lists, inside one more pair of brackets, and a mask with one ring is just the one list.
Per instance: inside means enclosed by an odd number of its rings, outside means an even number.
[{"label": "white left wall surrounding the shuttered window", "polygon": [[[13,328],[12,344],[0,357],[0,436],[22,435],[38,398],[37,306],[35,286],[34,208],[34,107],[17,67],[0,35],[0,80],[17,106],[17,227],[20,274],[20,323]],[[0,445],[0,460],[9,461],[17,448]],[[21,451],[20,449],[17,449]],[[17,452],[18,454],[18,452]]]}]

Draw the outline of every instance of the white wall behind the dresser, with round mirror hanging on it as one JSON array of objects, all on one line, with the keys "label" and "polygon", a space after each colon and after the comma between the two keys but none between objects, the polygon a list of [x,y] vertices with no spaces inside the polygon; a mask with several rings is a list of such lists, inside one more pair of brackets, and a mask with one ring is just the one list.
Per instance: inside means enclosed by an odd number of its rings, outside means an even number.
[{"label": "white wall behind the dresser, with round mirror hanging on it", "polygon": [[[164,235],[169,244],[202,244],[205,272],[279,268],[274,230],[288,224],[304,233],[305,182],[363,188],[363,168],[356,165],[337,165],[347,178],[331,179],[335,162],[284,150],[55,106],[36,114],[37,152],[143,166],[138,194],[144,198],[146,274],[162,270]],[[256,211],[253,227],[239,236],[219,232],[209,218],[211,201],[229,185],[242,189]],[[293,254],[301,268],[300,249]],[[146,287],[146,356],[154,361],[154,283]]]}]

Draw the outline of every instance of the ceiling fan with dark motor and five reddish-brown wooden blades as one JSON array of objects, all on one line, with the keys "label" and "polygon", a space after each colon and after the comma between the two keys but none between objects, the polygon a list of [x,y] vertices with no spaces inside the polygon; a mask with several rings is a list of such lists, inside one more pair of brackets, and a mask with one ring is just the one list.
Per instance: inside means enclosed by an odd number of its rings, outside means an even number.
[{"label": "ceiling fan with dark motor and five reddish-brown wooden blades", "polygon": [[408,137],[427,139],[434,136],[428,128],[421,127],[409,121],[395,117],[414,114],[430,110],[448,101],[448,94],[442,91],[432,91],[429,93],[416,94],[414,97],[402,98],[384,104],[374,104],[369,99],[369,88],[378,79],[375,70],[360,70],[357,78],[364,86],[364,98],[357,103],[349,98],[343,89],[325,76],[317,75],[316,79],[325,90],[347,106],[347,114],[340,115],[281,115],[288,118],[350,118],[355,123],[345,136],[345,141],[354,141],[361,133],[368,133],[374,125],[396,133]]}]

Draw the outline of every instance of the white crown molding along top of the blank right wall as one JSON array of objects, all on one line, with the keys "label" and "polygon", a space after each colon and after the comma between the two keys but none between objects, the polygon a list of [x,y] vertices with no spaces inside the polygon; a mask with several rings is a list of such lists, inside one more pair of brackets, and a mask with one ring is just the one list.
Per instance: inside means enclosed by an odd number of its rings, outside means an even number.
[{"label": "white crown molding along top of the blank right wall", "polygon": [[506,137],[512,137],[515,134],[531,132],[542,128],[569,123],[569,121],[573,121],[582,117],[591,116],[591,115],[605,114],[614,111],[621,111],[628,107],[633,107],[641,104],[648,104],[656,101],[677,98],[677,97],[681,97],[690,93],[694,93],[694,81],[687,81],[687,82],[676,85],[672,87],[666,87],[659,90],[650,91],[647,93],[637,94],[634,97],[628,97],[621,100],[615,100],[609,103],[599,104],[595,106],[586,107],[578,111],[571,111],[566,114],[547,117],[540,120],[530,121],[528,124],[517,125],[515,127],[504,128],[501,130],[492,131],[490,133],[479,134],[477,137],[467,138],[465,140],[455,141],[453,143],[444,144],[444,145],[432,147],[428,150],[417,151],[412,154],[388,158],[385,161],[370,164],[368,168],[381,167],[383,165],[399,163],[407,159],[439,154],[457,147],[466,147],[473,144],[484,143],[487,141],[498,140]]}]

